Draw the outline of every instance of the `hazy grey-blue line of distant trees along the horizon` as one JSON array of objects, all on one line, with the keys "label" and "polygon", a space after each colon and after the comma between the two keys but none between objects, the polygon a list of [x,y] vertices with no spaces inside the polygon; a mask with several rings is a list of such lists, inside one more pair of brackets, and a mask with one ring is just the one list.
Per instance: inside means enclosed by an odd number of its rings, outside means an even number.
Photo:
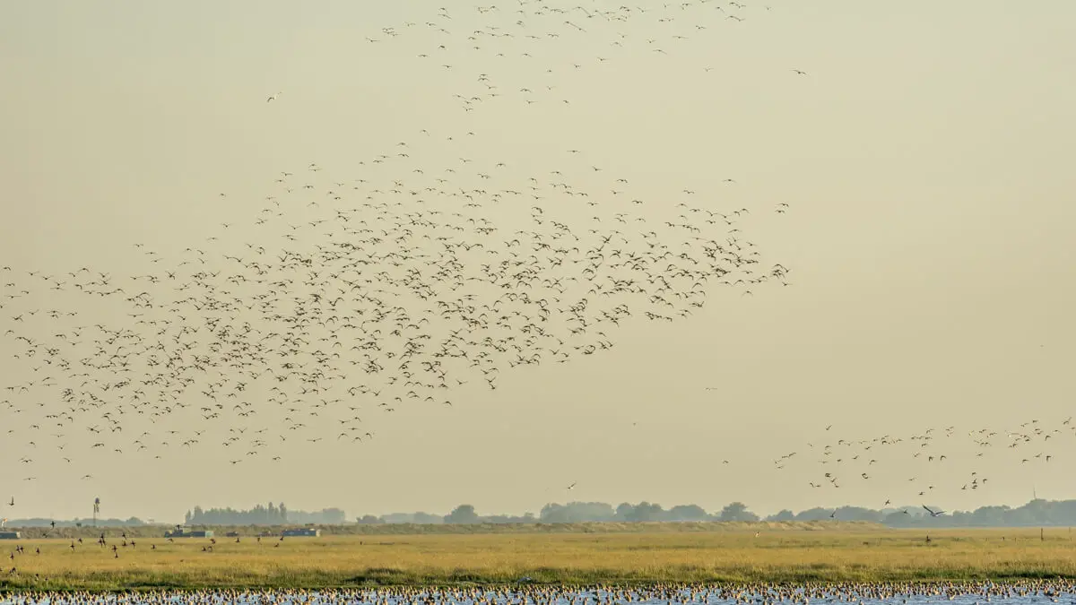
[{"label": "hazy grey-blue line of distant trees along the horizon", "polygon": [[[929,506],[929,505],[928,505]],[[935,511],[936,507],[931,507]],[[58,527],[91,526],[119,527],[169,524],[129,519],[74,519],[53,520],[44,518],[12,519],[9,527],[42,527],[55,521]],[[623,503],[617,507],[601,502],[572,502],[569,504],[547,504],[535,516],[526,513],[479,515],[473,506],[463,504],[448,515],[429,512],[394,512],[390,515],[364,515],[349,519],[340,508],[325,508],[318,511],[289,510],[286,505],[269,503],[249,510],[232,508],[202,508],[195,506],[188,510],[183,521],[186,525],[236,526],[258,525],[279,526],[288,524],[315,525],[442,525],[442,524],[577,524],[577,523],[654,523],[654,522],[809,522],[809,521],[858,521],[881,523],[890,527],[1016,527],[1016,526],[1071,526],[1076,525],[1076,500],[1047,501],[1033,500],[1019,507],[982,506],[975,510],[958,510],[932,517],[922,505],[901,508],[869,509],[858,506],[833,508],[809,508],[799,512],[781,510],[776,515],[761,517],[751,512],[744,503],[734,502],[720,511],[708,512],[703,507],[688,504],[663,508],[660,504],[640,502]]]}]

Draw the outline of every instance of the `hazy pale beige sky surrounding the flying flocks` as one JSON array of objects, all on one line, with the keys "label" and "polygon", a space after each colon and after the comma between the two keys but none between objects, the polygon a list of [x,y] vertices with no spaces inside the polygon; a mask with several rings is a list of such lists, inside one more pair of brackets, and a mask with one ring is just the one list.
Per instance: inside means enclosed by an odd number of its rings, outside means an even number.
[{"label": "hazy pale beige sky surrounding the flying flocks", "polygon": [[[490,188],[560,170],[592,197],[623,175],[656,213],[684,188],[714,211],[747,207],[745,238],[792,269],[789,287],[714,287],[689,319],[611,332],[611,350],[502,371],[493,392],[464,385],[452,408],[371,412],[369,442],[295,446],[277,463],[228,465],[215,445],[87,462],[72,445],[74,468],[48,436],[27,445],[58,404],[0,392],[14,405],[0,406],[0,496],[18,501],[3,513],[88,516],[95,496],[105,516],[167,520],[281,500],[351,516],[463,502],[521,513],[574,481],[572,500],[761,512],[1020,504],[1033,487],[1076,497],[1076,437],[1061,425],[1076,407],[1076,5],[648,1],[615,20],[599,13],[620,3],[584,0],[592,17],[578,4],[459,3],[451,18],[426,0],[0,5],[0,265],[23,281],[84,265],[146,272],[133,243],[178,258],[223,222],[231,250],[279,249],[252,222],[281,171],[309,181],[316,163],[318,187],[372,180],[371,159],[401,141],[429,172],[505,163]],[[454,95],[486,94],[482,79],[501,96],[465,112]],[[300,199],[286,221],[306,220]],[[500,210],[525,221],[530,206]],[[13,315],[0,309],[0,328]],[[0,339],[5,358],[17,349]],[[0,383],[22,383],[24,366]],[[1033,419],[1063,432],[1007,449],[1006,431]],[[807,486],[830,470],[823,444],[950,425],[932,446],[945,466],[922,466],[905,441],[868,480],[847,466],[840,489]],[[976,459],[967,432],[983,427],[999,436]],[[1046,451],[1049,464],[1021,463]],[[990,488],[961,491],[974,469]],[[911,476],[934,486],[928,498]]]}]

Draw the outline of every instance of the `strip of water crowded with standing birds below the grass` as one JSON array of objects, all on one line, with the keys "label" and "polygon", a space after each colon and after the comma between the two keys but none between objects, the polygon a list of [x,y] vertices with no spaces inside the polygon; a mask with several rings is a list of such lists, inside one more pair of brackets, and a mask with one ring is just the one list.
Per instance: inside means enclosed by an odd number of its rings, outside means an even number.
[{"label": "strip of water crowded with standing birds below the grass", "polygon": [[0,605],[954,605],[1076,604],[1076,582],[744,585],[716,587],[473,589],[203,590],[146,593],[13,593]]}]

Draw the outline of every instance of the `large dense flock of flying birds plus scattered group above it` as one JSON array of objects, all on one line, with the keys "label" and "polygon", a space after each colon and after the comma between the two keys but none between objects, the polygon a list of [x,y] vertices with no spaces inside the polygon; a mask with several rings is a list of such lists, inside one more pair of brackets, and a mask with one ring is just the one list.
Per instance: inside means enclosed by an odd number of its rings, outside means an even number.
[{"label": "large dense flock of flying birds plus scattered group above it", "polygon": [[[472,31],[441,9],[368,43],[425,31],[422,40],[434,38],[415,60],[458,46],[473,61],[512,52],[537,66],[562,36],[650,20],[660,39],[591,42],[671,59],[688,31],[706,36],[742,11],[708,0],[612,10],[523,1],[478,8],[486,25]],[[467,112],[507,94],[497,84],[507,67],[480,69],[465,79],[475,94],[457,99]],[[553,88],[519,95],[535,104]],[[750,296],[789,283],[789,269],[744,238],[752,210],[723,208],[694,185],[654,199],[576,149],[512,181],[520,169],[468,157],[472,131],[437,130],[416,129],[346,178],[317,163],[283,171],[245,225],[221,224],[175,253],[133,244],[144,264],[133,273],[0,267],[0,337],[12,353],[0,418],[4,439],[18,444],[5,467],[32,482],[58,463],[66,478],[90,480],[100,464],[131,455],[199,449],[240,465],[279,461],[297,442],[362,442],[374,438],[378,413],[448,408],[464,385],[496,389],[512,370],[599,353],[618,326],[686,318],[718,286]],[[429,153],[435,141],[458,156]]]}]

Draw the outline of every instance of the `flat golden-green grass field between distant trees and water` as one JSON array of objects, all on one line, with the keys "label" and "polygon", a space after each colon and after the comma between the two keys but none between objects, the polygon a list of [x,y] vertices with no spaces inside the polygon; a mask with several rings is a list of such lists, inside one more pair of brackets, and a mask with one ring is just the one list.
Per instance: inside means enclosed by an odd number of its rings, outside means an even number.
[{"label": "flat golden-green grass field between distant trees and water", "polygon": [[[1076,577],[1065,529],[887,530],[730,524],[724,531],[365,535],[318,538],[24,539],[0,589],[317,588],[362,585],[905,581]],[[755,535],[758,532],[758,536]],[[156,546],[156,550],[153,550]],[[41,553],[37,554],[37,549]],[[14,574],[10,568],[16,567]]]}]

